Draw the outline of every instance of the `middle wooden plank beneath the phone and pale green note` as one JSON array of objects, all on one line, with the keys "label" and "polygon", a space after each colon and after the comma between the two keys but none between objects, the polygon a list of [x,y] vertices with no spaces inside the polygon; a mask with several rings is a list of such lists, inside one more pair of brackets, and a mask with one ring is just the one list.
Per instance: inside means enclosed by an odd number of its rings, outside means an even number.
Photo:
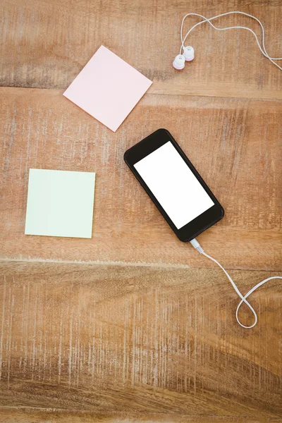
[{"label": "middle wooden plank beneath the phone and pale green note", "polygon": [[[0,89],[1,257],[213,266],[124,164],[125,149],[165,125],[226,210],[200,236],[207,252],[231,268],[282,269],[282,102],[147,94],[112,133],[61,94]],[[29,168],[97,172],[92,239],[24,235]]]}]

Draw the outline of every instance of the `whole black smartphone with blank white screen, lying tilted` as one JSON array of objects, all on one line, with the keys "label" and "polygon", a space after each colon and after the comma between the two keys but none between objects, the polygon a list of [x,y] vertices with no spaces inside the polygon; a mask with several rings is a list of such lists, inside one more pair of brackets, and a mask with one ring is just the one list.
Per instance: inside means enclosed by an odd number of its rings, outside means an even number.
[{"label": "whole black smartphone with blank white screen, lying tilted", "polygon": [[133,145],[124,159],[180,241],[223,218],[223,207],[168,130]]}]

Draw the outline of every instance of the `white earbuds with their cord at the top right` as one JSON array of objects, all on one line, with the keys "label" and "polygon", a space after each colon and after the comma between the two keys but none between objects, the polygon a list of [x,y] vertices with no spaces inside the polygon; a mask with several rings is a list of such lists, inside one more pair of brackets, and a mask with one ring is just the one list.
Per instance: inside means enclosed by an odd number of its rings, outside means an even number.
[{"label": "white earbuds with their cord at the top right", "polygon": [[[262,28],[262,45],[259,43],[259,40],[258,40],[257,35],[255,34],[255,32],[253,30],[251,30],[249,27],[232,26],[232,27],[219,28],[219,27],[216,27],[211,22],[211,20],[214,20],[216,18],[221,18],[221,16],[231,15],[233,13],[238,13],[240,15],[245,15],[245,16],[248,16],[249,18],[252,18],[252,19],[257,20],[257,22],[259,23],[260,27]],[[198,22],[194,26],[192,26],[192,28],[190,28],[190,30],[187,32],[187,34],[185,35],[185,37],[183,39],[183,24],[184,24],[185,19],[188,16],[199,16],[203,20],[201,20],[200,22]],[[255,36],[255,39],[257,41],[257,45],[259,46],[259,50],[262,52],[262,54],[267,59],[269,59],[271,61],[271,63],[274,63],[274,65],[277,66],[278,69],[280,69],[282,71],[282,67],[279,66],[274,61],[274,60],[282,60],[282,57],[270,57],[269,54],[266,51],[266,48],[264,46],[264,26],[262,25],[262,23],[260,22],[260,20],[257,19],[257,18],[255,18],[255,16],[249,15],[248,13],[245,13],[245,12],[239,12],[239,11],[221,13],[221,15],[213,16],[212,18],[206,18],[205,16],[202,16],[199,13],[188,13],[187,15],[185,15],[184,18],[183,18],[183,20],[182,20],[181,29],[180,29],[180,37],[181,37],[180,54],[178,54],[178,56],[176,56],[176,58],[174,59],[174,61],[173,61],[173,68],[176,68],[178,71],[180,71],[181,69],[183,69],[185,67],[185,61],[192,61],[194,59],[194,49],[193,49],[193,47],[190,47],[190,46],[185,47],[184,43],[185,43],[188,35],[190,34],[190,32],[192,30],[194,30],[195,27],[197,27],[198,25],[201,25],[204,22],[209,23],[209,25],[211,25],[215,30],[218,30],[218,31],[225,31],[225,30],[232,30],[232,29],[241,29],[241,30],[247,30],[247,31],[252,32],[252,34]]]}]

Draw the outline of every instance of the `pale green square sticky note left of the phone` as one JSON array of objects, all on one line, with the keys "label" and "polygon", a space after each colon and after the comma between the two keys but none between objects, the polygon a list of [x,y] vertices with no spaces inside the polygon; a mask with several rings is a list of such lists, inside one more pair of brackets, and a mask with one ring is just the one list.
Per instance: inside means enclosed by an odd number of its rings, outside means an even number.
[{"label": "pale green square sticky note left of the phone", "polygon": [[92,238],[95,173],[30,169],[26,235]]}]

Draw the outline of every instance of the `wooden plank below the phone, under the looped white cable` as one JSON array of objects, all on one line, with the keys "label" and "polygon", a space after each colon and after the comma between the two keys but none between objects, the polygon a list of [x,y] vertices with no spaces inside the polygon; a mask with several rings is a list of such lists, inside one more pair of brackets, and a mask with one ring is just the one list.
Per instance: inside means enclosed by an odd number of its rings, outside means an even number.
[{"label": "wooden plank below the phone, under the looped white cable", "polygon": [[[2,415],[281,417],[281,284],[252,296],[259,326],[245,331],[217,270],[4,262],[0,271]],[[265,272],[232,275],[244,291]],[[250,321],[245,309],[241,317]]]}]

